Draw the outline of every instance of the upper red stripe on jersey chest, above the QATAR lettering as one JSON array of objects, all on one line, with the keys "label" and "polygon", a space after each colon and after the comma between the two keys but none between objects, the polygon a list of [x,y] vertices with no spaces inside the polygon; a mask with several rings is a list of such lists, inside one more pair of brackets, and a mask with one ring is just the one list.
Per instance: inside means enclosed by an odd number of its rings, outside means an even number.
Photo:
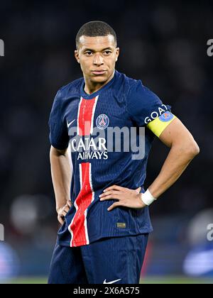
[{"label": "upper red stripe on jersey chest, above the QATAR lettering", "polygon": [[80,105],[80,112],[78,117],[78,125],[80,129],[80,136],[89,136],[91,131],[92,123],[92,112],[96,97],[94,99],[82,99]]}]

